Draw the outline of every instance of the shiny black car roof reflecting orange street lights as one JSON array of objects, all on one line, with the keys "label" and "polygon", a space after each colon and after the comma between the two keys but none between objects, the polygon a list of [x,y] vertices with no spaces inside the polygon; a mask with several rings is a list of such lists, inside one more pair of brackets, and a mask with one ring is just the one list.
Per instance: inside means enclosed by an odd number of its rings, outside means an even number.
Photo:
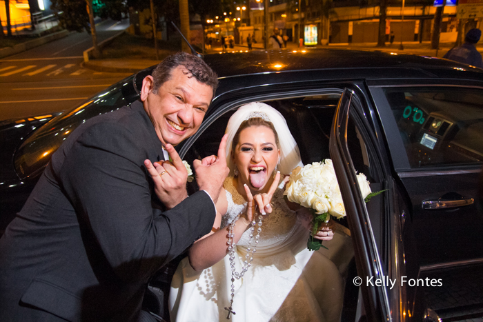
[{"label": "shiny black car roof reflecting orange street lights", "polygon": [[[464,76],[461,75],[463,70],[476,72],[475,77],[481,78],[481,73],[483,73],[480,68],[470,67],[447,59],[379,50],[332,48],[239,50],[207,54],[204,60],[221,78],[302,70],[344,70],[344,73],[351,74],[351,70],[364,69],[366,70],[364,78],[380,78],[383,75],[384,77],[404,77],[404,75],[394,72],[395,69],[419,70],[426,77],[447,77],[448,72],[455,73],[456,76],[462,78],[468,77],[468,73],[463,73]],[[458,71],[460,71],[459,74],[456,73]],[[407,77],[410,77],[410,75],[408,74]],[[413,74],[413,77],[421,76]]]}]

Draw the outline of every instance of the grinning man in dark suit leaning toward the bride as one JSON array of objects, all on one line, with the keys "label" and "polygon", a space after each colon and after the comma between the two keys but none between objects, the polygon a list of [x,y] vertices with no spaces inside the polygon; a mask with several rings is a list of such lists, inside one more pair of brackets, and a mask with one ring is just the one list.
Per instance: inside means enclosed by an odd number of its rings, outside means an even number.
[{"label": "grinning man in dark suit leaning toward the bride", "polygon": [[68,137],[0,239],[0,321],[139,318],[150,276],[213,226],[225,158],[195,161],[188,197],[173,145],[198,130],[216,87],[204,61],[173,55],[141,101]]}]

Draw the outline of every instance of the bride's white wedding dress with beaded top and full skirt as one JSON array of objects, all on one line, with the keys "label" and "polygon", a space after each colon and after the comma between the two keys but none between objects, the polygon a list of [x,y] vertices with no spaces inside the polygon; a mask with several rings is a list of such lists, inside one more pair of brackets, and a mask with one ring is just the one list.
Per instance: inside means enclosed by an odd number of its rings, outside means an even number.
[{"label": "bride's white wedding dress with beaded top and full skirt", "polygon": [[[244,211],[246,203],[225,181],[228,211],[221,228]],[[235,279],[235,297],[230,319],[246,321],[339,321],[342,310],[342,278],[334,263],[321,252],[307,250],[308,231],[277,189],[273,212],[264,218],[253,263]],[[248,247],[248,230],[236,245],[236,270],[241,271]],[[229,256],[202,272],[191,268],[188,258],[173,276],[169,306],[171,321],[227,321],[230,306]]]}]

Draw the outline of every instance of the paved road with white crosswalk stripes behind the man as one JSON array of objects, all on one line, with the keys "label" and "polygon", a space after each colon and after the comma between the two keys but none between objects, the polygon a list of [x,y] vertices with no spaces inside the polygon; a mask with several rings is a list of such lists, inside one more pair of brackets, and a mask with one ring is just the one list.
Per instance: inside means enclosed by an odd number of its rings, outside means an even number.
[{"label": "paved road with white crosswalk stripes behind the man", "polygon": [[[100,41],[126,29],[128,21],[96,25]],[[83,68],[82,52],[92,47],[86,32],[0,59],[0,120],[48,114],[79,105],[128,73]]]}]

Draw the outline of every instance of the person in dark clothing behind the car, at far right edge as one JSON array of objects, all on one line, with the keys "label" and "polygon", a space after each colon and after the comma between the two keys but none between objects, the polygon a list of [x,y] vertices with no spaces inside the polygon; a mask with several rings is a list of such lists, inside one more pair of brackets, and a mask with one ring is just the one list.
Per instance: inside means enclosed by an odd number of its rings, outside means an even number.
[{"label": "person in dark clothing behind the car, at far right edge", "polygon": [[471,66],[483,68],[482,55],[476,50],[476,43],[480,40],[482,31],[473,28],[466,33],[464,43],[462,46],[457,46],[443,56],[443,58],[458,61],[460,63],[467,63]]}]

